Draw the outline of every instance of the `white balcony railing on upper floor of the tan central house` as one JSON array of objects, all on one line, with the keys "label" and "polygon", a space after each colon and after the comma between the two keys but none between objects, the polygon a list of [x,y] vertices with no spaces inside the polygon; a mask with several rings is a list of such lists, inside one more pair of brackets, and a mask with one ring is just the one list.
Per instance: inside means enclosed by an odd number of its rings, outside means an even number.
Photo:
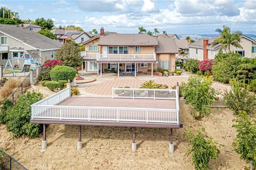
[{"label": "white balcony railing on upper floor of the tan central house", "polygon": [[97,61],[156,61],[156,54],[97,54]]}]

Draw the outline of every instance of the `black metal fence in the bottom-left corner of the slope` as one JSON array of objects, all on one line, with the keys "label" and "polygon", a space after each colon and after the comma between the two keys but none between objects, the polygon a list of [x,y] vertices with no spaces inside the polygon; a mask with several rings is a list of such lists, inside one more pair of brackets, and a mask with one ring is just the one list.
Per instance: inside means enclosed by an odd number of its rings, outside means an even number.
[{"label": "black metal fence in the bottom-left corner of the slope", "polygon": [[0,169],[3,170],[27,170],[16,159],[0,149]]}]

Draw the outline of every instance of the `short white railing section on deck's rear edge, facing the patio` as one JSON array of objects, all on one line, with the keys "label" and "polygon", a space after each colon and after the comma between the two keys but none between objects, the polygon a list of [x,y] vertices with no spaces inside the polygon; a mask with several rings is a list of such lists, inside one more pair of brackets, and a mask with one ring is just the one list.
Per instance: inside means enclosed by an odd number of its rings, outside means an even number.
[{"label": "short white railing section on deck's rear edge, facing the patio", "polygon": [[175,89],[112,88],[112,98],[146,98],[178,100],[177,90]]}]

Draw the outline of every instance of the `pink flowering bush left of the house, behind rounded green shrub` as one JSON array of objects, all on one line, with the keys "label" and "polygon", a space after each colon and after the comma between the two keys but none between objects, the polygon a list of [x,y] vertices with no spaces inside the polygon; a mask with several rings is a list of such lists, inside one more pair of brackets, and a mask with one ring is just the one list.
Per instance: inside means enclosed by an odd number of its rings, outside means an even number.
[{"label": "pink flowering bush left of the house, behind rounded green shrub", "polygon": [[42,80],[51,80],[50,71],[56,65],[62,65],[61,60],[46,60],[43,64]]}]

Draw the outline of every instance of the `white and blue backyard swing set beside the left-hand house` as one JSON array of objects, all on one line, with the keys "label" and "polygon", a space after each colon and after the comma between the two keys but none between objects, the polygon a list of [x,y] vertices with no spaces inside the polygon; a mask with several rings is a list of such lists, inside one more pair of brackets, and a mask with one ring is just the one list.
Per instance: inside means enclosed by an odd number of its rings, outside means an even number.
[{"label": "white and blue backyard swing set beside the left-hand house", "polygon": [[16,76],[15,68],[20,68],[18,61],[23,61],[21,72],[29,72],[30,70],[35,70],[37,66],[40,66],[41,57],[38,55],[36,50],[26,50],[23,56],[20,58],[12,58],[7,60],[4,70],[11,70],[13,76]]}]

